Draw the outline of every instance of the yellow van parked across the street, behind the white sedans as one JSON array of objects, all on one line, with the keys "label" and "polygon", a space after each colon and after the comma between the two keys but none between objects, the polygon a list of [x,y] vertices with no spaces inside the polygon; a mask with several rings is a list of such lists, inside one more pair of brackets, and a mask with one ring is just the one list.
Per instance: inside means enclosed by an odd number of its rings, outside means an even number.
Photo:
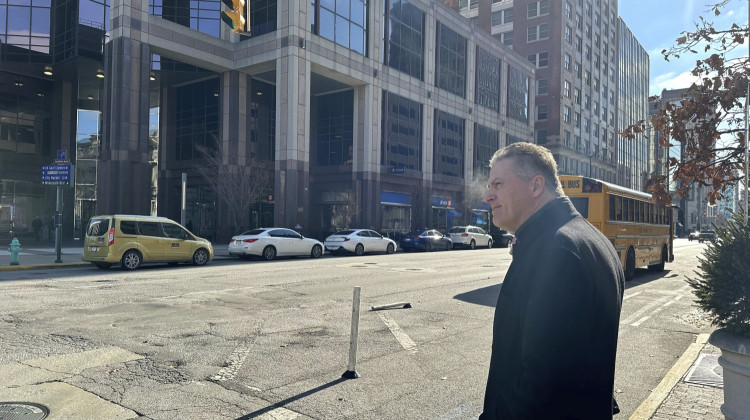
[{"label": "yellow van parked across the street, behind the white sedans", "polygon": [[204,265],[213,257],[211,242],[166,217],[112,215],[91,218],[81,260],[102,269],[119,263],[135,270],[156,262]]}]

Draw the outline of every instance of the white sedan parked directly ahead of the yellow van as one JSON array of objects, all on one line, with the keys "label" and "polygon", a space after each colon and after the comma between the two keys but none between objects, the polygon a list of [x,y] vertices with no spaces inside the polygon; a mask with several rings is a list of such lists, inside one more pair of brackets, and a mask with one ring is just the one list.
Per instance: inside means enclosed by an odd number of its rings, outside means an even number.
[{"label": "white sedan parked directly ahead of the yellow van", "polygon": [[270,261],[276,257],[299,255],[318,258],[323,255],[323,244],[291,229],[261,228],[232,237],[227,250],[229,255],[241,258],[256,255]]}]

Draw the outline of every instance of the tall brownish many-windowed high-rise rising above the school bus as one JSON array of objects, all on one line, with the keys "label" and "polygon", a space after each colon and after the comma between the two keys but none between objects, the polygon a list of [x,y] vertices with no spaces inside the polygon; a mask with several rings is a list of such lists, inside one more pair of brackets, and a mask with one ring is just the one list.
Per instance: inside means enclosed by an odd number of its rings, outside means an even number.
[{"label": "tall brownish many-windowed high-rise rising above the school bus", "polygon": [[[536,67],[535,141],[560,173],[643,189],[645,134],[619,132],[648,116],[648,54],[617,0],[471,0],[459,11]],[[489,9],[489,25],[482,16]]]}]

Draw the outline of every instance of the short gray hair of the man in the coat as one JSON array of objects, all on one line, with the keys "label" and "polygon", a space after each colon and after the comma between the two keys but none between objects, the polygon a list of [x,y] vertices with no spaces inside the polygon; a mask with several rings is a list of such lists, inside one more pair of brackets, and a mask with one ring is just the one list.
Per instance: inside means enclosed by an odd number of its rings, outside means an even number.
[{"label": "short gray hair of the man in the coat", "polygon": [[543,146],[533,143],[513,143],[495,152],[490,159],[490,167],[496,162],[510,159],[513,172],[524,181],[531,181],[535,176],[544,177],[544,185],[558,197],[565,193],[557,177],[557,163],[552,153]]}]

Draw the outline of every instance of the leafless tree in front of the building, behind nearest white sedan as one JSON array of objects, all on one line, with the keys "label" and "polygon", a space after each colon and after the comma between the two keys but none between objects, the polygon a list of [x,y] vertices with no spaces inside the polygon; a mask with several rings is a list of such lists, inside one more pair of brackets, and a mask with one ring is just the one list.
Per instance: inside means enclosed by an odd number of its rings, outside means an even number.
[{"label": "leafless tree in front of the building, behind nearest white sedan", "polygon": [[[244,164],[238,164],[236,157],[225,160],[220,151],[203,146],[197,150],[204,161],[198,166],[198,173],[206,179],[219,200],[226,203],[232,226],[240,232],[245,230],[250,207],[268,190],[267,169],[255,158],[246,158]],[[230,163],[232,161],[234,163]]]}]

